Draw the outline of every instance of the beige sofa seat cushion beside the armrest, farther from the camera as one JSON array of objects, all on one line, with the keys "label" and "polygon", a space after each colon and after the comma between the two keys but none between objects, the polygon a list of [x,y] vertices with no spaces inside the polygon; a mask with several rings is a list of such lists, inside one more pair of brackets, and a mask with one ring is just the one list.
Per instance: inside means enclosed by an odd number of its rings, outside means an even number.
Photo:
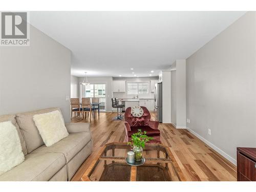
[{"label": "beige sofa seat cushion beside the armrest, farther from the camera", "polygon": [[61,139],[52,146],[40,146],[32,154],[58,152],[65,155],[66,163],[68,163],[90,140],[91,134],[88,132],[70,133],[68,137]]}]

